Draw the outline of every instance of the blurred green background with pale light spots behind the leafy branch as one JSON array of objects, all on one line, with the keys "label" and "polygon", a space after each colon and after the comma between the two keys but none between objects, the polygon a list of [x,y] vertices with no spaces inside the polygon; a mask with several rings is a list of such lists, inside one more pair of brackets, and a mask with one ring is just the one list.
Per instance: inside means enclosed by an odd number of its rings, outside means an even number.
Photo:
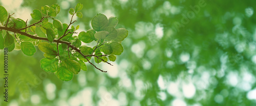
[{"label": "blurred green background with pale light spots behind the leafy branch", "polygon": [[[9,101],[0,105],[256,105],[255,1],[1,0],[14,17],[32,20],[33,9],[60,5],[57,19],[69,23],[70,8],[83,4],[80,31],[97,13],[119,19],[129,36],[114,66],[87,64],[88,71],[60,81],[40,68],[43,53],[9,52]],[[94,46],[96,43],[88,44]]]}]

